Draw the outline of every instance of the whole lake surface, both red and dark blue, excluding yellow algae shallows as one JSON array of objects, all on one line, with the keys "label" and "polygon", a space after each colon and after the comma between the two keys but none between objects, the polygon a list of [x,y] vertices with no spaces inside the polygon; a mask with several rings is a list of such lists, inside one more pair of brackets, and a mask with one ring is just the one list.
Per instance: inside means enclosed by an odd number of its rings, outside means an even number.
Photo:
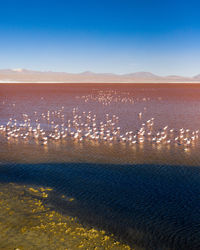
[{"label": "whole lake surface, both red and dark blue, excluding yellow algae shallows", "polygon": [[73,195],[56,209],[138,248],[200,248],[199,85],[5,84],[0,114],[2,181]]}]

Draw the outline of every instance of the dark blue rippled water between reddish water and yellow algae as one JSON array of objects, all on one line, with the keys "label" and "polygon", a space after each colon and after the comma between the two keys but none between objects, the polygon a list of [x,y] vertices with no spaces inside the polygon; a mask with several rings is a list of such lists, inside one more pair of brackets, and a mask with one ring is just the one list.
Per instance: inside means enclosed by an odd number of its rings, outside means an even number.
[{"label": "dark blue rippled water between reddish water and yellow algae", "polygon": [[0,181],[52,187],[53,209],[138,249],[200,249],[198,166],[1,164]]}]

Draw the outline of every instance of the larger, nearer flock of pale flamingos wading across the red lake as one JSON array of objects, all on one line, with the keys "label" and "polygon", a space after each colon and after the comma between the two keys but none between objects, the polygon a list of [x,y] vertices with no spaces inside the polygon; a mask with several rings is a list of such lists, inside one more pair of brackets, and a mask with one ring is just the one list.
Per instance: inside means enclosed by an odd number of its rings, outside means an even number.
[{"label": "larger, nearer flock of pale flamingos wading across the red lake", "polygon": [[[143,113],[139,112],[137,119],[141,121],[142,115]],[[185,151],[195,145],[199,136],[199,130],[176,130],[167,125],[156,131],[153,117],[143,123],[141,121],[141,126],[136,131],[124,131],[120,127],[119,117],[108,113],[100,121],[91,111],[80,112],[78,108],[73,108],[71,117],[68,119],[64,106],[59,110],[47,110],[41,114],[34,112],[33,116],[24,113],[19,122],[10,117],[6,124],[0,125],[0,134],[8,142],[37,142],[42,146],[71,138],[80,143],[95,141],[127,145],[176,144],[182,145]]]}]

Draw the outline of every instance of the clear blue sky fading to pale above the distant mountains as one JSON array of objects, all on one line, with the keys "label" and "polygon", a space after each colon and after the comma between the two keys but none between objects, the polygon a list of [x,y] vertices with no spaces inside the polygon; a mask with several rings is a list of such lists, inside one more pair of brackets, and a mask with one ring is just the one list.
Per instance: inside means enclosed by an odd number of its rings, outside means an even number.
[{"label": "clear blue sky fading to pale above the distant mountains", "polygon": [[6,0],[0,69],[200,74],[199,0]]}]

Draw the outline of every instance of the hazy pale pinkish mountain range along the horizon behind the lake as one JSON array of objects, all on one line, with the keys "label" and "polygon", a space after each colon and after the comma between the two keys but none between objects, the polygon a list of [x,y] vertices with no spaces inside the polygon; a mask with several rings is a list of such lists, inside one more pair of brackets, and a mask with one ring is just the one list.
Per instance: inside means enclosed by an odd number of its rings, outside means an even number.
[{"label": "hazy pale pinkish mountain range along the horizon behind the lake", "polygon": [[26,69],[0,70],[0,83],[3,82],[56,82],[56,83],[200,83],[200,74],[194,77],[177,75],[158,76],[150,72],[135,72],[117,75],[112,73],[94,73],[90,71],[79,74],[52,71],[32,71]]}]

